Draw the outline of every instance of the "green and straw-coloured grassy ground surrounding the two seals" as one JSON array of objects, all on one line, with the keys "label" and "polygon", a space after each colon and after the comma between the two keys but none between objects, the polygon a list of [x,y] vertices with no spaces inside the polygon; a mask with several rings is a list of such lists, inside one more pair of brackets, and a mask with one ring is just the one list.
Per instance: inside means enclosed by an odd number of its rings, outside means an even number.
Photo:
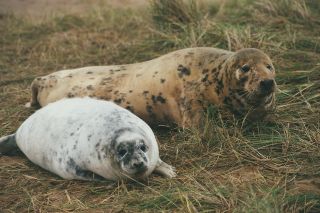
[{"label": "green and straw-coloured grassy ground surrounding the two seals", "polygon": [[144,183],[66,181],[22,154],[0,157],[0,212],[319,212],[320,3],[159,0],[40,23],[0,14],[0,135],[32,109],[29,85],[63,68],[144,61],[172,50],[256,47],[277,70],[273,122],[210,109],[204,131],[155,130],[177,168]]}]

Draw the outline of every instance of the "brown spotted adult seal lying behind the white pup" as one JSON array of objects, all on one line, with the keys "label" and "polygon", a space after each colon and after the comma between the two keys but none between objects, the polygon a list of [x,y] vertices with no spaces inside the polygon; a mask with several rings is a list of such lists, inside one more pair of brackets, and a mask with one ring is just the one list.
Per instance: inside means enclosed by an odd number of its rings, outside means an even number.
[{"label": "brown spotted adult seal lying behind the white pup", "polygon": [[[127,65],[62,70],[32,83],[29,105],[65,97],[111,100],[149,124],[199,124],[209,104],[262,119],[274,106],[275,70],[261,50],[187,48]],[[250,112],[250,113],[248,113]]]}]

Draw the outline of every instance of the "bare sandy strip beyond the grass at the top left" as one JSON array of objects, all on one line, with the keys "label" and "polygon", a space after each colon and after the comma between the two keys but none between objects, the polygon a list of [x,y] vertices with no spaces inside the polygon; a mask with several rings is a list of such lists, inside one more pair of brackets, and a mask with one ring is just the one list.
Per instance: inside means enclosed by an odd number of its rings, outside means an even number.
[{"label": "bare sandy strip beyond the grass at the top left", "polygon": [[59,14],[81,14],[99,7],[138,8],[148,0],[0,0],[0,13],[43,18]]}]

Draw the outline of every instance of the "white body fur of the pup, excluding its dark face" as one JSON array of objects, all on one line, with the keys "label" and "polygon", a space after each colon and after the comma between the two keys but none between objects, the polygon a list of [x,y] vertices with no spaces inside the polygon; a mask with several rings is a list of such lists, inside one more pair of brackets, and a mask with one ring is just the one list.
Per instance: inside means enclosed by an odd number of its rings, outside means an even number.
[{"label": "white body fur of the pup, excluding its dark face", "polygon": [[[16,142],[33,163],[62,178],[84,179],[70,171],[70,163],[75,163],[83,170],[106,179],[118,180],[126,178],[126,175],[112,167],[110,156],[98,159],[98,152],[101,156],[104,154],[100,147],[110,145],[114,132],[121,128],[139,128],[143,131],[142,137],[149,147],[146,153],[149,161],[146,176],[149,175],[160,161],[158,145],[151,128],[112,102],[73,98],[49,104],[20,126]],[[137,134],[126,133],[121,137],[130,139]]]}]

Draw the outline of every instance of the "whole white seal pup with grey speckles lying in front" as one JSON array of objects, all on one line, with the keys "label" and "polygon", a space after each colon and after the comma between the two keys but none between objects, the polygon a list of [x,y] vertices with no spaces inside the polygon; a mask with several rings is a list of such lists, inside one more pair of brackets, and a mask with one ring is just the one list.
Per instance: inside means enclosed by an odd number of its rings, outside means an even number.
[{"label": "whole white seal pup with grey speckles lying in front", "polygon": [[153,171],[174,177],[156,138],[140,118],[91,98],[62,99],[38,110],[15,134],[0,138],[0,153],[18,148],[64,179],[144,179]]}]

